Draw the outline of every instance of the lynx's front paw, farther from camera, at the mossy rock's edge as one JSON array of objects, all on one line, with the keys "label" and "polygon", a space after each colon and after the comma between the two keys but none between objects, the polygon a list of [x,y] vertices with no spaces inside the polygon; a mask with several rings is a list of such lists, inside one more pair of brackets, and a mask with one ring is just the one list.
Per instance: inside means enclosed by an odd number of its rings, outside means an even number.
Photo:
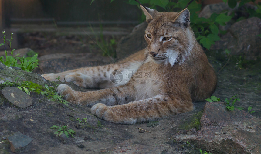
[{"label": "lynx's front paw, farther from camera, at the mossy rock's edge", "polygon": [[66,84],[60,84],[56,90],[57,90],[58,94],[63,96],[63,99],[76,104],[76,97],[75,97],[76,94],[75,94],[75,91],[71,87],[69,87]]}]

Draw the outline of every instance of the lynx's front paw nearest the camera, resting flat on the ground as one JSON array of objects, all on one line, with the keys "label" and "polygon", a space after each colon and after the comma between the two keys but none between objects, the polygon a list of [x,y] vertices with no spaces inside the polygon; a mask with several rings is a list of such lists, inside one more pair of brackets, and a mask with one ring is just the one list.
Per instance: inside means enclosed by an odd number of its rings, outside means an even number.
[{"label": "lynx's front paw nearest the camera, resting flat on the ground", "polygon": [[100,119],[113,122],[116,124],[122,123],[117,116],[110,110],[109,106],[98,103],[91,108],[91,113]]}]

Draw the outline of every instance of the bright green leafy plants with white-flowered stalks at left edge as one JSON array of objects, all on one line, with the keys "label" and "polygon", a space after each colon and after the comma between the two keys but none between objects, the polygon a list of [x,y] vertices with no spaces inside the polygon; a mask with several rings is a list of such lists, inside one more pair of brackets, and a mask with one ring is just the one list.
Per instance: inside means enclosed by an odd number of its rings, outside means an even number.
[{"label": "bright green leafy plants with white-flowered stalks at left edge", "polygon": [[[19,67],[21,68],[22,70],[25,70],[27,72],[32,72],[34,70],[35,67],[38,67],[39,63],[38,63],[38,59],[37,59],[37,54],[32,56],[32,57],[26,57],[23,56],[21,58],[18,58],[17,56],[18,55],[15,55],[13,56],[13,52],[15,49],[12,50],[12,35],[13,33],[11,33],[11,39],[6,39],[5,36],[5,32],[2,32],[3,33],[3,40],[4,40],[4,43],[1,43],[0,46],[4,45],[5,46],[5,43],[7,43],[6,41],[9,42],[9,46],[10,46],[10,52],[11,52],[11,56],[7,56],[7,53],[8,51],[6,51],[6,48],[5,48],[5,57],[2,56],[0,57],[0,62],[5,64],[6,66],[13,66],[13,67]],[[17,63],[17,60],[20,60],[20,64]]]}]

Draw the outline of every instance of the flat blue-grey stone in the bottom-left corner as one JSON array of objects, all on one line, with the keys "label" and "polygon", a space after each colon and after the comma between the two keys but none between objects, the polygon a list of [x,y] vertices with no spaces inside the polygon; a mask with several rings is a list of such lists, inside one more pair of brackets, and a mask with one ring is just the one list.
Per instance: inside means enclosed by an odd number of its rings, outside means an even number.
[{"label": "flat blue-grey stone in the bottom-left corner", "polygon": [[32,142],[32,138],[23,135],[21,132],[16,132],[14,135],[9,136],[8,141],[10,142],[10,149],[12,152],[19,153],[22,148]]}]

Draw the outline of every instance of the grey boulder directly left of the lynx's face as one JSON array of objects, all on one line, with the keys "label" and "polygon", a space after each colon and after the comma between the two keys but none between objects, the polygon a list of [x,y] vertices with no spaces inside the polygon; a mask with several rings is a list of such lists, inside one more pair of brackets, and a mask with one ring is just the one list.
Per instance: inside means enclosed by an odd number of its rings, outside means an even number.
[{"label": "grey boulder directly left of the lynx's face", "polygon": [[147,22],[142,22],[141,24],[135,26],[129,35],[120,39],[116,49],[117,58],[125,58],[139,50],[146,48],[147,43],[144,39],[146,28]]}]

